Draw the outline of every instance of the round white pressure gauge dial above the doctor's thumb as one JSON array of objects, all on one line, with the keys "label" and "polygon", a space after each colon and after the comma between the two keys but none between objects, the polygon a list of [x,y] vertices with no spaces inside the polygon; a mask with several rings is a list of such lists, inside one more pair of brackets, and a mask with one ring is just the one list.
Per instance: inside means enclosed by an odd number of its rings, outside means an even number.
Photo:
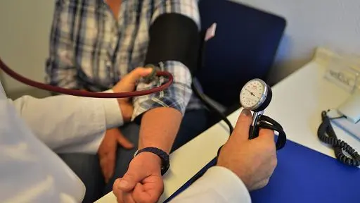
[{"label": "round white pressure gauge dial above the doctor's thumb", "polygon": [[265,101],[267,85],[260,79],[250,80],[240,92],[240,104],[245,109],[258,109]]}]

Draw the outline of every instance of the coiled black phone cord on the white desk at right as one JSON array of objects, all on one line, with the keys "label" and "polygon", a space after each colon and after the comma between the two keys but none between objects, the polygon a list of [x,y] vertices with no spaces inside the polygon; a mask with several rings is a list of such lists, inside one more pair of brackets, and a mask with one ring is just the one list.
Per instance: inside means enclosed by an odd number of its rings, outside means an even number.
[{"label": "coiled black phone cord on the white desk at right", "polygon": [[[360,155],[345,141],[338,139],[326,111],[321,112],[321,118],[323,122],[318,128],[319,139],[333,146],[336,159],[342,163],[349,166],[360,166]],[[347,152],[350,157],[344,154],[344,152]]]}]

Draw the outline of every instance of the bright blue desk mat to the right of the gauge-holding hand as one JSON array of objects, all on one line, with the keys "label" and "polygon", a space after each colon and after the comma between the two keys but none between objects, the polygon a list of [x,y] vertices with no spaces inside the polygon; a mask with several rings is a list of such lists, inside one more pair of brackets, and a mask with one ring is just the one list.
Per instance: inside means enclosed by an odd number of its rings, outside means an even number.
[{"label": "bright blue desk mat to the right of the gauge-holding hand", "polygon": [[252,202],[360,202],[360,170],[288,141],[278,152],[269,185],[251,192]]}]

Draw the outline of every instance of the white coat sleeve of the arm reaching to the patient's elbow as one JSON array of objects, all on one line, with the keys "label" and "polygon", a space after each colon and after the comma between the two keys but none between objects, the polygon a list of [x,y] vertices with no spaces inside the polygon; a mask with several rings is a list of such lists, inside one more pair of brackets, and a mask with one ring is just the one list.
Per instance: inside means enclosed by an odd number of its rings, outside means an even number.
[{"label": "white coat sleeve of the arm reaching to the patient's elbow", "polygon": [[58,153],[95,154],[105,130],[123,124],[117,99],[23,96],[11,103],[32,133]]}]

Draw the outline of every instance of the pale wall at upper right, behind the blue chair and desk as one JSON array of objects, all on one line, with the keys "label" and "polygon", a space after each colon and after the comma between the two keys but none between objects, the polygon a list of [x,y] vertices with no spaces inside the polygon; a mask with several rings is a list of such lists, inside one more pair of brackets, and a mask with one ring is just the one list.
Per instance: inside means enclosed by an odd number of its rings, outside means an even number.
[{"label": "pale wall at upper right, behind the blue chair and desk", "polygon": [[274,68],[279,80],[328,47],[360,54],[359,0],[232,0],[283,16],[288,21]]}]

